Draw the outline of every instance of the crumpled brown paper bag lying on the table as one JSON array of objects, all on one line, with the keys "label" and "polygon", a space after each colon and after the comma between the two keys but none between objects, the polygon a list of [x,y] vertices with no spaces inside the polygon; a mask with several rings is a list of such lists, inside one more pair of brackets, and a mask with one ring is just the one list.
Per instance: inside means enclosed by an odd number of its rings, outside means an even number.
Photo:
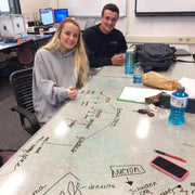
[{"label": "crumpled brown paper bag lying on the table", "polygon": [[142,82],[145,86],[150,86],[157,89],[165,89],[165,90],[177,90],[178,86],[181,86],[180,82],[177,80],[160,75],[156,72],[148,72],[142,76]]}]

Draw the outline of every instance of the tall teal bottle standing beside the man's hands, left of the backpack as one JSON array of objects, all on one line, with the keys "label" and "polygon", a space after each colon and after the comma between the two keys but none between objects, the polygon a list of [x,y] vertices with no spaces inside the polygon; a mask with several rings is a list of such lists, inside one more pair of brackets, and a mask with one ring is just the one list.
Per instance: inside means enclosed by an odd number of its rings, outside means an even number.
[{"label": "tall teal bottle standing beside the man's hands, left of the backpack", "polygon": [[126,63],[125,63],[125,73],[127,75],[132,75],[134,73],[134,51],[126,51]]}]

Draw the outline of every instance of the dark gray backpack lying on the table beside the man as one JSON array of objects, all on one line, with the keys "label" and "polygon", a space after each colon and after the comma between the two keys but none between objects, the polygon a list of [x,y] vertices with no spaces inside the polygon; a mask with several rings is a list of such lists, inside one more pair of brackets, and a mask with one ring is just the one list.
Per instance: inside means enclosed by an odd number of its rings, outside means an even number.
[{"label": "dark gray backpack lying on the table beside the man", "polygon": [[166,72],[174,62],[174,47],[164,43],[135,44],[135,62],[140,62],[144,73]]}]

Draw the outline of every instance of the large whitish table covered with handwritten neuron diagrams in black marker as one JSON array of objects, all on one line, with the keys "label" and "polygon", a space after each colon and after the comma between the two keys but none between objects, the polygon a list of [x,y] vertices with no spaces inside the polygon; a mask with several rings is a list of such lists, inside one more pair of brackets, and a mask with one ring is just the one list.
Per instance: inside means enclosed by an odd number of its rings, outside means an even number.
[{"label": "large whitish table covered with handwritten neuron diagrams in black marker", "polygon": [[[185,66],[172,68],[182,75]],[[195,73],[195,64],[187,68]],[[173,69],[165,74],[178,77]],[[123,66],[104,67],[0,169],[0,194],[194,194],[195,115],[172,126],[169,109],[155,117],[132,112],[146,105],[117,101],[131,84]],[[153,150],[186,159],[166,157],[190,174],[180,182],[153,168]]]}]

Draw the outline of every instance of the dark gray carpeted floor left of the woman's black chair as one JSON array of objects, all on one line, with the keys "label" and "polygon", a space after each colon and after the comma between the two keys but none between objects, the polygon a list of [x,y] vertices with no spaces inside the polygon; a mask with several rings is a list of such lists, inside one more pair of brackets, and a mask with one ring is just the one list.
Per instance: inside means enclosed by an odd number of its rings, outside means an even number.
[{"label": "dark gray carpeted floor left of the woman's black chair", "polygon": [[0,150],[18,150],[31,135],[23,130],[9,78],[0,77]]}]

